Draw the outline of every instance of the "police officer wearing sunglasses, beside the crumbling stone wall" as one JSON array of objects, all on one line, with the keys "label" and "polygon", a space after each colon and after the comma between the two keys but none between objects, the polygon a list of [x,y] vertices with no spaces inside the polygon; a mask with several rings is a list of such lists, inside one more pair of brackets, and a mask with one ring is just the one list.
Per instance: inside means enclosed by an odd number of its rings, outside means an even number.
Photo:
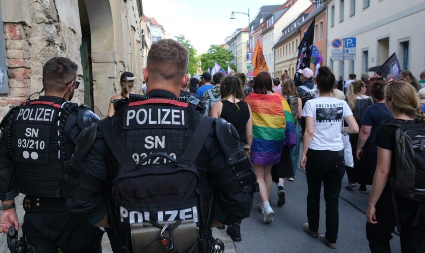
[{"label": "police officer wearing sunglasses, beside the crumbling stone wall", "polygon": [[28,252],[101,252],[103,232],[73,218],[58,188],[79,133],[99,120],[89,107],[69,102],[79,85],[76,73],[68,58],[50,59],[43,67],[45,96],[28,98],[0,124],[0,232],[18,230],[14,198],[26,194],[22,230]]}]

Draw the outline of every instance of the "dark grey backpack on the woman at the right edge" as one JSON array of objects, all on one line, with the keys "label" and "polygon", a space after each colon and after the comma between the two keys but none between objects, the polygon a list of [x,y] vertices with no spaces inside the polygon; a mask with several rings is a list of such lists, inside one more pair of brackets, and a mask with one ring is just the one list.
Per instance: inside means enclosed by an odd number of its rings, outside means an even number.
[{"label": "dark grey backpack on the woman at the right edge", "polygon": [[385,125],[396,129],[396,166],[393,188],[402,197],[425,203],[425,124],[393,120]]}]

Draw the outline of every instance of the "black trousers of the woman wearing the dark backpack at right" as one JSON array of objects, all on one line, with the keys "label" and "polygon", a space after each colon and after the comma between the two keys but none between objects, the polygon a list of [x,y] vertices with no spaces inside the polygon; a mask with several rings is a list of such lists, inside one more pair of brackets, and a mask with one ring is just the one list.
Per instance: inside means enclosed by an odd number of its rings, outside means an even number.
[{"label": "black trousers of the woman wearing the dark backpack at right", "polygon": [[[409,203],[402,197],[397,197],[397,209],[400,217],[400,243],[403,253],[425,252],[425,221],[419,220],[418,226],[413,226],[415,218],[415,203]],[[413,207],[413,208],[412,208]],[[390,240],[396,226],[391,190],[389,184],[376,202],[377,224],[366,223],[366,237],[372,253],[390,253]],[[410,212],[410,211],[413,212]]]}]

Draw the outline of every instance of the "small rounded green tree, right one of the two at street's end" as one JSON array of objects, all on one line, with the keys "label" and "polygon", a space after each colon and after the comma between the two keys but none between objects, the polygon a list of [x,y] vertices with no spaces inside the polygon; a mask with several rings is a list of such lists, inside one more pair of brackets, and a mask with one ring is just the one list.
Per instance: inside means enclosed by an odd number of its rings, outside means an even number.
[{"label": "small rounded green tree, right one of the two at street's end", "polygon": [[206,71],[208,67],[212,69],[214,63],[217,62],[227,72],[227,64],[229,64],[236,72],[236,66],[230,63],[235,56],[231,50],[225,49],[220,45],[211,45],[205,54],[200,57],[201,67],[203,71]]}]

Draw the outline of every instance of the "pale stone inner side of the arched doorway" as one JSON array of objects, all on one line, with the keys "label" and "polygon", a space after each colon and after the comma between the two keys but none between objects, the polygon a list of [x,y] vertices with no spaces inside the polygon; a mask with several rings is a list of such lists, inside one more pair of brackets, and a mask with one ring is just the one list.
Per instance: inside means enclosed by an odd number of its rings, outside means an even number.
[{"label": "pale stone inner side of the arched doorway", "polygon": [[106,116],[116,76],[113,17],[107,0],[83,0],[91,37],[91,78],[94,111]]}]

